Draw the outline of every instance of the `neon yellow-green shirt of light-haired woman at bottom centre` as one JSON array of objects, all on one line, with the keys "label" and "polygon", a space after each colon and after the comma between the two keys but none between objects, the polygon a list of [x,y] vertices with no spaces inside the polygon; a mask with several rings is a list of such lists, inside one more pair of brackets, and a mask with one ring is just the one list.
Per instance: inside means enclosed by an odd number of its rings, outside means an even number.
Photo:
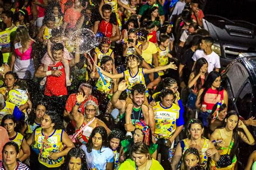
[{"label": "neon yellow-green shirt of light-haired woman at bottom centre", "polygon": [[[135,162],[131,159],[124,161],[118,168],[118,170],[136,169]],[[157,160],[152,159],[150,170],[164,170]]]}]

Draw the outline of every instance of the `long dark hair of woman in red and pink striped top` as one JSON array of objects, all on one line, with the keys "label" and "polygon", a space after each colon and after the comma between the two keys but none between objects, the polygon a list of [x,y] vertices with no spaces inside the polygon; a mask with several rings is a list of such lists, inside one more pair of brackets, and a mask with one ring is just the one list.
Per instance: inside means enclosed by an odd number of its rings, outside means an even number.
[{"label": "long dark hair of woman in red and pink striped top", "polygon": [[[217,72],[217,71],[211,71],[211,72],[208,74],[208,77],[207,77],[207,79],[206,79],[206,81],[205,81],[205,83],[204,83],[204,85],[203,85],[204,91],[203,91],[203,93],[202,93],[201,96],[200,96],[200,104],[203,103],[204,97],[205,97],[205,94],[206,94],[207,90],[212,87],[213,82],[214,82],[215,79],[218,78],[218,77],[221,78],[221,75],[220,75],[220,73]],[[219,94],[219,92],[220,92],[221,90],[223,90],[223,87],[220,86],[220,87],[218,87],[218,88],[216,88],[216,89],[217,89],[217,91],[218,91],[217,94]]]}]

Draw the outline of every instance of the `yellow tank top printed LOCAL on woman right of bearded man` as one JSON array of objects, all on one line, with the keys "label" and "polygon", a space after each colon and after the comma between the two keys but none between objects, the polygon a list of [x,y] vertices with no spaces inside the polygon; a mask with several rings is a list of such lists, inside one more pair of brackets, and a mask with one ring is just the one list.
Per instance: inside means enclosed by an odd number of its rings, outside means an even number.
[{"label": "yellow tank top printed LOCAL on woman right of bearded man", "polygon": [[176,120],[179,118],[180,107],[172,104],[170,108],[165,108],[160,101],[153,107],[156,125],[154,135],[157,138],[169,139],[176,130]]}]

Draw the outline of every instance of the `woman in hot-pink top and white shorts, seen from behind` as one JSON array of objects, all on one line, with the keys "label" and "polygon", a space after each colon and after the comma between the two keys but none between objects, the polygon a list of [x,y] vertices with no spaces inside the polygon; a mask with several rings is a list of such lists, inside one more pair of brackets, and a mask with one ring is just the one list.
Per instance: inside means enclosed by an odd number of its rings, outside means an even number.
[{"label": "woman in hot-pink top and white shorts, seen from behind", "polygon": [[15,53],[12,53],[10,67],[18,74],[19,79],[32,79],[35,73],[33,58],[31,57],[33,42],[28,29],[24,26],[16,30]]}]

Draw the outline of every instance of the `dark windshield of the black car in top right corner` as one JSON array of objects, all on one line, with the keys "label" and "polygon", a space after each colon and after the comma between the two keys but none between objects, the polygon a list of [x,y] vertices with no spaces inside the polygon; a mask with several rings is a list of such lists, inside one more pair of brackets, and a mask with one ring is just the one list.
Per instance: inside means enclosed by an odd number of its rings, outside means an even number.
[{"label": "dark windshield of the black car in top right corner", "polygon": [[210,15],[218,15],[230,20],[240,20],[256,24],[255,6],[255,0],[208,0],[205,5],[204,13]]}]

